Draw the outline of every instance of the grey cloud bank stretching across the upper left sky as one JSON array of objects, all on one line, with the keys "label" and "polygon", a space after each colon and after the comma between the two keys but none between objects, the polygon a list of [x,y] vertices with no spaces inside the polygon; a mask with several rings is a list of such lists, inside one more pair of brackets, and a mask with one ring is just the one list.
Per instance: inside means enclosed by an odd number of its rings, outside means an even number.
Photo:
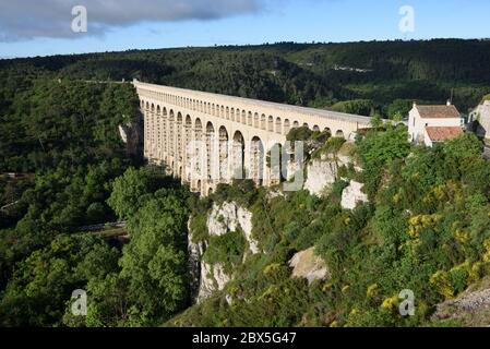
[{"label": "grey cloud bank stretching across the upper left sky", "polygon": [[136,23],[214,20],[262,9],[261,0],[0,0],[0,41],[80,37],[71,31],[72,8],[88,13],[87,35]]}]

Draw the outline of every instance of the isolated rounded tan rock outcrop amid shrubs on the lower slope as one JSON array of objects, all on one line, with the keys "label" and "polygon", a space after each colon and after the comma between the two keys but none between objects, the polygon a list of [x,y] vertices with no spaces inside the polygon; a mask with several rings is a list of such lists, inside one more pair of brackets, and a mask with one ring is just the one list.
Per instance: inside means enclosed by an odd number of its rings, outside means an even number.
[{"label": "isolated rounded tan rock outcrop amid shrubs on the lower slope", "polygon": [[296,253],[289,261],[292,267],[292,277],[302,277],[308,284],[322,280],[328,276],[325,261],[314,254],[314,248]]}]

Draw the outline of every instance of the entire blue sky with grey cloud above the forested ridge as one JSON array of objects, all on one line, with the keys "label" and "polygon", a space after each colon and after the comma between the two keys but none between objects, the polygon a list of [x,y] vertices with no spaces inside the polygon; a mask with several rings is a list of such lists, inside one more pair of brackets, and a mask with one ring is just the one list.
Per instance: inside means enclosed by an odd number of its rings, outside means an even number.
[{"label": "entire blue sky with grey cloud above the forested ridge", "polygon": [[[0,3],[0,57],[275,41],[490,37],[488,0],[227,0],[226,5],[224,0],[216,0],[219,5],[213,0],[183,0],[175,1],[171,9],[170,0],[139,1],[141,8],[155,7],[146,12],[129,0],[120,1],[117,11],[100,1],[75,1],[86,3],[88,32],[67,35],[61,28],[70,27],[73,16],[65,8],[56,8],[59,1]],[[37,10],[43,2],[44,11]],[[52,11],[48,2],[53,3]],[[415,10],[414,33],[398,29],[403,5]]]}]

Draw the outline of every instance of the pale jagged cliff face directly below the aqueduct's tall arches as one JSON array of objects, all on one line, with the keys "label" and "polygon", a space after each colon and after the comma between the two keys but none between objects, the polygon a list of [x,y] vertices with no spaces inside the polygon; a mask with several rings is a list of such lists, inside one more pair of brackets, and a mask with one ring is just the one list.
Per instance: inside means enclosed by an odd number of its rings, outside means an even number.
[{"label": "pale jagged cliff face directly below the aqueduct's tall arches", "polygon": [[230,231],[243,230],[250,252],[259,253],[258,242],[252,238],[252,213],[236,203],[214,204],[207,217],[207,230],[211,236],[223,236]]}]

